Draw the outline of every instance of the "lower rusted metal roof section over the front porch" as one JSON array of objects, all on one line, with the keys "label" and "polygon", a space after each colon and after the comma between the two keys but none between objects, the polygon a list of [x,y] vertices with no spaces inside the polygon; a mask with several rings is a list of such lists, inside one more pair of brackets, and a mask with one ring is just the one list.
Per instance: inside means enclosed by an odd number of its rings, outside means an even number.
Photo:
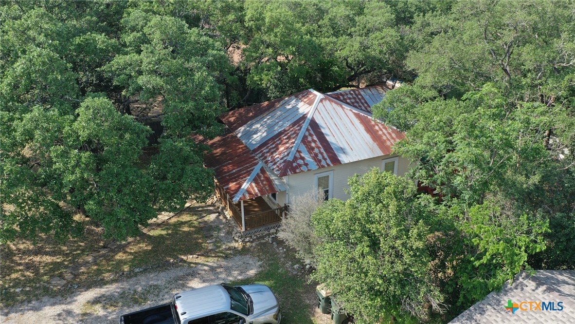
[{"label": "lower rusted metal roof section over the front porch", "polygon": [[212,151],[205,155],[207,167],[216,173],[216,179],[233,201],[287,190],[287,185],[229,130],[224,135],[204,142]]}]

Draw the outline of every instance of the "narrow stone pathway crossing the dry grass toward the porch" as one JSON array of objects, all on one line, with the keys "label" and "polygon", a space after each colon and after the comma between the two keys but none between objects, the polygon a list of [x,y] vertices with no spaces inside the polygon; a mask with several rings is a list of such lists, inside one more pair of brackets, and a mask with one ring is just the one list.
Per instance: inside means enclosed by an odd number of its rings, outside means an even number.
[{"label": "narrow stone pathway crossing the dry grass toward the porch", "polygon": [[[190,207],[194,203],[193,200],[187,201],[186,205],[181,211],[168,213],[162,212],[158,214],[158,217],[151,219],[148,221],[148,227],[143,227],[140,225],[140,230],[145,234],[151,230],[154,230],[156,227],[160,226],[160,224],[166,222],[166,220],[173,218],[175,215],[178,215],[186,208]],[[106,245],[103,249],[98,249],[94,253],[90,254],[87,257],[82,258],[77,264],[72,265],[70,268],[63,269],[62,275],[59,277],[53,277],[48,281],[48,284],[54,288],[62,288],[64,285],[68,283],[68,280],[74,279],[78,273],[82,272],[90,268],[90,266],[96,264],[101,258],[104,258],[112,251],[121,249],[122,247],[128,245],[129,243],[133,242],[136,238],[129,238],[126,242],[112,242]]]}]

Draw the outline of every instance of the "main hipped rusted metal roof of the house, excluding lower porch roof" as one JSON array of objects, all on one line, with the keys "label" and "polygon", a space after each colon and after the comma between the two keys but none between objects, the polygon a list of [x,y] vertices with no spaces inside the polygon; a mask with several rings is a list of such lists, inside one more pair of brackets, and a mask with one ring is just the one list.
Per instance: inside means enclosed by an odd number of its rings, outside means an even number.
[{"label": "main hipped rusted metal roof of the house, excluding lower porch roof", "polygon": [[371,118],[371,106],[384,95],[381,86],[331,94],[309,89],[233,110],[222,120],[283,177],[390,154],[404,134]]}]

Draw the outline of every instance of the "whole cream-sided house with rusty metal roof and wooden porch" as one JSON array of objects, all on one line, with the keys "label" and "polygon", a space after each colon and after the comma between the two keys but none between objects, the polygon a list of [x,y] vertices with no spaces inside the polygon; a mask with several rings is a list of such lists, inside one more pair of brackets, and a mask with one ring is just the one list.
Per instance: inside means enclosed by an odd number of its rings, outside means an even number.
[{"label": "whole cream-sided house with rusty metal roof and wooden porch", "polygon": [[346,200],[348,178],[373,167],[403,175],[409,161],[392,147],[405,135],[371,117],[388,89],[309,89],[221,116],[227,128],[206,141],[205,165],[241,230],[279,222],[290,199],[309,190]]}]

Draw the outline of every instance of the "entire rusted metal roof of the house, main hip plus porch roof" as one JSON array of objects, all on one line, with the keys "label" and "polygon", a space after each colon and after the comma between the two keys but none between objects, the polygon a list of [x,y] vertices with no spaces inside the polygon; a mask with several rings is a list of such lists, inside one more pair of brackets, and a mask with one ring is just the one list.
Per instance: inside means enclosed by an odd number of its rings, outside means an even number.
[{"label": "entire rusted metal roof of the house, main hip plus porch roof", "polygon": [[281,177],[289,174],[388,155],[405,135],[371,118],[385,90],[309,89],[232,110],[221,116],[226,134],[207,142],[206,166],[239,201],[287,190]]}]

